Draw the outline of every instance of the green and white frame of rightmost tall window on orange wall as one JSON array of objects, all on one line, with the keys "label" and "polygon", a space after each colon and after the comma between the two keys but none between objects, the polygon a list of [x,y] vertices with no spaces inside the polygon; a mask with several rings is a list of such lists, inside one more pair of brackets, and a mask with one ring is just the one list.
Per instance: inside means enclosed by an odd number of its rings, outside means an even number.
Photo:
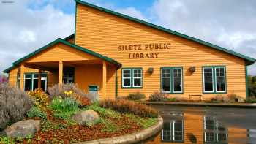
[{"label": "green and white frame of rightmost tall window on orange wall", "polygon": [[[204,69],[205,68],[211,68],[213,69],[212,78],[213,78],[213,91],[205,91],[205,77],[204,77]],[[217,68],[223,68],[224,69],[224,75],[225,75],[225,91],[217,91],[217,75],[216,75],[216,69]],[[203,94],[227,94],[227,70],[226,66],[203,66],[202,67],[202,91]]]}]

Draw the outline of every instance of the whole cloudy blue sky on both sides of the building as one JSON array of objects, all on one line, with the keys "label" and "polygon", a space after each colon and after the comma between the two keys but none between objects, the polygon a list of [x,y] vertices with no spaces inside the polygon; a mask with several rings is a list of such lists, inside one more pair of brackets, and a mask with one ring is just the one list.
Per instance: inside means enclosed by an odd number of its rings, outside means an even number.
[{"label": "whole cloudy blue sky on both sides of the building", "polygon": [[[256,58],[255,0],[83,1]],[[74,28],[74,0],[0,0],[0,72]]]}]

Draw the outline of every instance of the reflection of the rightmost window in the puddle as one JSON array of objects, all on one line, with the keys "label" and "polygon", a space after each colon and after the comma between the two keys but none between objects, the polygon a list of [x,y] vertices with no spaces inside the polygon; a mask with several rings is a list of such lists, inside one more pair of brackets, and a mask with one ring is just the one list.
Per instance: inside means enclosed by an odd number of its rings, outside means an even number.
[{"label": "reflection of the rightmost window in the puddle", "polygon": [[227,129],[214,117],[204,117],[205,143],[227,143]]}]

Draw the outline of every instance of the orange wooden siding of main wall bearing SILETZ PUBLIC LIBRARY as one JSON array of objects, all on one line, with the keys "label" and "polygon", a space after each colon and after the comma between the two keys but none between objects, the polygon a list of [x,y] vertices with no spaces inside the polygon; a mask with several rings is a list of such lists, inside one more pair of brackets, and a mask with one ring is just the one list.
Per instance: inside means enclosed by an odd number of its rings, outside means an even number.
[{"label": "orange wooden siding of main wall bearing SILETZ PUBLIC LIBRARY", "polygon": [[[122,67],[143,68],[143,88],[121,88],[121,69],[118,70],[118,96],[126,96],[140,91],[149,96],[160,89],[160,67],[183,67],[184,94],[172,96],[188,97],[189,94],[202,94],[202,66],[225,65],[227,71],[227,94],[235,93],[246,96],[245,62],[242,58],[231,56],[197,42],[189,41],[157,29],[135,23],[115,15],[94,10],[81,4],[77,6],[75,44],[89,48],[97,53],[115,59]],[[118,51],[119,45],[135,45],[149,43],[171,43],[170,50],[136,50]],[[159,52],[159,58],[129,59],[128,53]],[[189,67],[196,71],[190,75]],[[146,70],[154,67],[149,75]],[[114,77],[113,77],[114,78]],[[113,80],[111,80],[113,81]],[[114,87],[108,85],[108,87]],[[203,99],[210,99],[217,94],[204,94]]]}]

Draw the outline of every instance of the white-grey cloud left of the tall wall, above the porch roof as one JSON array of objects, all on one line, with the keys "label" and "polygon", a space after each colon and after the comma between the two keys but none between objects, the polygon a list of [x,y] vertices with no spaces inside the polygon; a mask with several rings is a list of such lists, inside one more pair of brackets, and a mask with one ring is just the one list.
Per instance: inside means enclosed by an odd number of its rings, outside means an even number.
[{"label": "white-grey cloud left of the tall wall, above the porch roof", "polygon": [[33,7],[30,2],[0,4],[0,71],[54,39],[74,32],[73,14],[64,13],[50,3],[37,9],[37,1]]}]

